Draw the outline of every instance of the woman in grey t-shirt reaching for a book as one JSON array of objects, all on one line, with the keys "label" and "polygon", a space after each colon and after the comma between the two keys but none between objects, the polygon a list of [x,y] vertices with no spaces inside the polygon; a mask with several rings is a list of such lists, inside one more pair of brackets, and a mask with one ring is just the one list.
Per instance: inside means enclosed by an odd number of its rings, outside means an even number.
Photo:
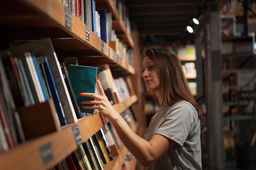
[{"label": "woman in grey t-shirt reaching for a book", "polygon": [[148,170],[201,170],[200,118],[177,55],[167,49],[146,49],[142,77],[147,91],[159,101],[144,139],[133,132],[112,107],[99,80],[100,95],[82,93],[93,101],[84,108],[98,109],[112,124],[124,145]]}]

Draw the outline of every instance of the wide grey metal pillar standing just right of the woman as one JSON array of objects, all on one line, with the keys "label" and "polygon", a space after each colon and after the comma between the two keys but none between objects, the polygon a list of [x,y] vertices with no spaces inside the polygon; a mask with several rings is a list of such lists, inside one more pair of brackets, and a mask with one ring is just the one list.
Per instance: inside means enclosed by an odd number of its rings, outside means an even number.
[{"label": "wide grey metal pillar standing just right of the woman", "polygon": [[211,11],[206,29],[205,88],[207,104],[207,137],[209,169],[224,170],[222,77],[221,77],[221,22],[220,12]]}]

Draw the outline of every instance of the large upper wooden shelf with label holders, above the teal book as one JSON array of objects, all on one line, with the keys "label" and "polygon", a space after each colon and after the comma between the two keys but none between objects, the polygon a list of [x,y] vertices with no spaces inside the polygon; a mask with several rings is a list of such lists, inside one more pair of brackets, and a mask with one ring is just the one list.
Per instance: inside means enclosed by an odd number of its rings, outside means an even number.
[{"label": "large upper wooden shelf with label holders, above the teal book", "polygon": [[[117,60],[115,60],[116,57],[113,56],[113,49],[111,49],[111,47],[108,46],[105,42],[104,52],[102,52],[101,39],[95,33],[93,33],[92,30],[90,30],[90,42],[87,42],[85,38],[86,25],[81,22],[81,20],[79,20],[76,16],[72,15],[72,29],[67,28],[67,26],[65,26],[65,7],[60,1],[15,0],[15,3],[5,1],[4,6],[5,10],[0,11],[0,24],[16,29],[25,29],[22,30],[23,32],[26,31],[26,29],[29,29],[27,30],[28,34],[25,34],[28,36],[33,36],[37,34],[40,35],[42,29],[57,29],[58,31],[60,31],[61,38],[54,38],[54,35],[52,35],[50,31],[48,31],[50,33],[46,31],[46,35],[50,37],[52,36],[52,43],[58,49],[65,51],[91,50],[102,57],[101,59],[99,59],[102,62],[115,63],[117,67],[119,67],[119,69],[127,71],[128,73],[130,73],[131,71],[130,74],[135,73],[134,68],[132,68],[132,66],[130,66],[126,62],[121,61],[120,56],[118,56]],[[13,13],[11,13],[10,11],[12,11]],[[32,28],[36,30],[40,28],[40,32],[31,30]],[[31,31],[34,34],[31,34]],[[33,38],[35,37],[26,36],[26,38],[32,38],[33,40]],[[108,49],[110,50],[110,52],[108,51]],[[94,56],[94,58],[96,57],[97,56]]]}]

